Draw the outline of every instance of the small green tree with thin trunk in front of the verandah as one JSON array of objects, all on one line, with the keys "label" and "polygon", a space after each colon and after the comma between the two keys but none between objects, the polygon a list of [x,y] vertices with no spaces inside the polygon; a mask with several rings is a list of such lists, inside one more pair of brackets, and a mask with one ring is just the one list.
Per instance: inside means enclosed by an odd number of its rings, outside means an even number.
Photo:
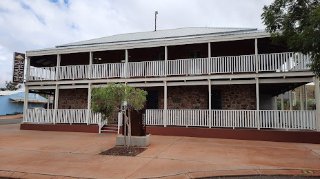
[{"label": "small green tree with thin trunk in front of the verandah", "polygon": [[[124,86],[122,83],[110,83],[107,87],[92,88],[91,109],[94,113],[101,114],[101,121],[108,120],[114,112],[122,112],[124,119],[124,147],[127,149],[127,127],[129,136],[129,146],[131,147],[131,112],[132,110],[140,110],[144,107],[147,92],[136,87]],[[125,109],[120,109],[120,105],[126,103]],[[128,116],[127,110],[128,109]]]}]

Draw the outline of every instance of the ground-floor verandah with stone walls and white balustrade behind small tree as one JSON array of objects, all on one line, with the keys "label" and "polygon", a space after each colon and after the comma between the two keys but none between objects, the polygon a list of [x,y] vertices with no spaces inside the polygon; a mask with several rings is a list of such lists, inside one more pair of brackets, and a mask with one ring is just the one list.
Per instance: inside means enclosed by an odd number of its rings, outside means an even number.
[{"label": "ground-floor verandah with stone walls and white balustrade behind small tree", "polygon": [[[256,89],[252,84],[212,85],[211,110],[208,109],[208,85],[168,87],[166,110],[164,110],[163,87],[141,88],[148,91],[147,125],[317,129],[316,112],[277,110],[274,97],[270,94],[259,94],[260,110],[257,112]],[[44,112],[40,116],[45,115],[48,120],[24,122],[52,123],[55,117],[64,118],[55,120],[55,123],[101,125],[99,115],[92,114],[87,107],[88,89],[59,89],[58,114],[54,114],[54,109],[46,109],[50,110],[50,114]],[[30,119],[35,113],[27,114]],[[114,123],[117,123],[118,115],[115,112],[112,116]]]}]

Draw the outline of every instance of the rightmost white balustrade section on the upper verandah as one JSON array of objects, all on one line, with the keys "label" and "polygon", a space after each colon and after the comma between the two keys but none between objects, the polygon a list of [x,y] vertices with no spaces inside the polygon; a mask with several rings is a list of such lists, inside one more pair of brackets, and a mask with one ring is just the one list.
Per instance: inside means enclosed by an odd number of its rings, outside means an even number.
[{"label": "rightmost white balustrade section on the upper verandah", "polygon": [[311,63],[309,55],[301,53],[285,52],[275,54],[259,54],[258,70],[288,72],[292,70],[309,70],[308,64]]}]

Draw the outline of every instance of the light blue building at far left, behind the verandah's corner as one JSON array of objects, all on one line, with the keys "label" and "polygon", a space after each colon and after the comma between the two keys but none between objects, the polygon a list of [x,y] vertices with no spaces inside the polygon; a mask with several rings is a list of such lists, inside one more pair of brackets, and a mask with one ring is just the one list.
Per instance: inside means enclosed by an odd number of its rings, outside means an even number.
[{"label": "light blue building at far left, behind the verandah's corner", "polygon": [[[0,91],[0,116],[7,114],[22,114],[24,91]],[[39,94],[30,93],[28,109],[46,107],[48,100]]]}]

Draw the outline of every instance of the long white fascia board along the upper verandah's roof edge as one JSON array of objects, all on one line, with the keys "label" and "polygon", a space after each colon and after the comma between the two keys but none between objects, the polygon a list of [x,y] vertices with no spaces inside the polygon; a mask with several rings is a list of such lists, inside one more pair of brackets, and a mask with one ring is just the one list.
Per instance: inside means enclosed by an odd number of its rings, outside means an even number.
[{"label": "long white fascia board along the upper verandah's roof edge", "polygon": [[76,48],[63,48],[57,50],[41,50],[41,51],[27,51],[27,56],[41,56],[50,54],[71,54],[79,52],[98,52],[106,50],[126,50],[134,48],[153,48],[161,46],[172,46],[172,45],[186,45],[193,43],[209,43],[219,41],[239,41],[245,39],[265,38],[270,37],[268,32],[253,32],[248,34],[232,34],[223,36],[205,36],[205,37],[194,37],[190,39],[175,39],[175,40],[163,40],[154,42],[141,42],[141,43],[126,43],[118,45],[98,45],[92,47]]}]

